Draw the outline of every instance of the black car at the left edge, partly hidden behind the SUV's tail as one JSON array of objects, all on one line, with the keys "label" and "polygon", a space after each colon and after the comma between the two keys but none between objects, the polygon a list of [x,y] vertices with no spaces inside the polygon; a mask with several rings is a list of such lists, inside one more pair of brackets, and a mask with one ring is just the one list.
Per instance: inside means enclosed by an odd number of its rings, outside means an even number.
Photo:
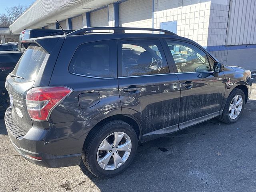
[{"label": "black car at the left edge, partly hidden behind the SUV's tail", "polygon": [[10,106],[9,95],[4,87],[6,77],[14,70],[18,60],[23,52],[20,51],[1,51],[0,52],[0,117],[5,114],[6,109]]}]

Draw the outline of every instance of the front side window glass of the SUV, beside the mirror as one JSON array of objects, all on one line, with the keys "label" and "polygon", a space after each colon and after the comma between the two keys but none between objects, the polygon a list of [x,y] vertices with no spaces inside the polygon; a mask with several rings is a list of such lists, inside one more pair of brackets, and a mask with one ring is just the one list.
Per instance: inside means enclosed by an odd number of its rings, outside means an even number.
[{"label": "front side window glass of the SUV, beside the mirror", "polygon": [[166,41],[179,73],[210,71],[206,54],[196,46],[178,41]]}]

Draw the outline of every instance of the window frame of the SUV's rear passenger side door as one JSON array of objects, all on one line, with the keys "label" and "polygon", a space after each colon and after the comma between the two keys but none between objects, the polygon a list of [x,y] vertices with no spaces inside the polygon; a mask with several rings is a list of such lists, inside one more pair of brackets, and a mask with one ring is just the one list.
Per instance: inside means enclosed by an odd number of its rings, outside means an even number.
[{"label": "window frame of the SUV's rear passenger side door", "polygon": [[[122,42],[123,41],[140,41],[140,40],[148,40],[148,41],[159,41],[160,46],[162,47],[163,55],[162,57],[165,58],[167,66],[169,68],[169,72],[165,74],[147,74],[147,75],[137,75],[137,76],[122,76]],[[117,40],[118,44],[118,78],[130,78],[130,77],[143,77],[143,76],[156,76],[156,75],[167,75],[167,74],[174,74],[174,70],[172,67],[172,63],[170,63],[169,56],[166,55],[166,46],[163,44],[162,38],[121,38]]]}]

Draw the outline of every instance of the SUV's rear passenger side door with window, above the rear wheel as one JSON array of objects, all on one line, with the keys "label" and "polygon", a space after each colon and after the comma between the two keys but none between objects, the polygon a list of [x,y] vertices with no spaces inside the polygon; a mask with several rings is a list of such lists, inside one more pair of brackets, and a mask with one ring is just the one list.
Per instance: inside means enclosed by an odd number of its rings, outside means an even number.
[{"label": "SUV's rear passenger side door with window, above the rear wheel", "polygon": [[141,122],[145,140],[178,130],[180,86],[160,40],[123,40],[118,52],[122,113]]}]

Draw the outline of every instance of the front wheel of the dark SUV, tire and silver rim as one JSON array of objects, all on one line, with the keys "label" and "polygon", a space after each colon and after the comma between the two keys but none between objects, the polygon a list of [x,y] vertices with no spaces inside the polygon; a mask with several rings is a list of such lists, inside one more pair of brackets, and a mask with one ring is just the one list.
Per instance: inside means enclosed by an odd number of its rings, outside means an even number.
[{"label": "front wheel of the dark SUV, tire and silver rim", "polygon": [[218,116],[218,120],[227,124],[236,122],[244,110],[244,104],[244,92],[240,89],[234,88],[228,96],[223,113]]}]

